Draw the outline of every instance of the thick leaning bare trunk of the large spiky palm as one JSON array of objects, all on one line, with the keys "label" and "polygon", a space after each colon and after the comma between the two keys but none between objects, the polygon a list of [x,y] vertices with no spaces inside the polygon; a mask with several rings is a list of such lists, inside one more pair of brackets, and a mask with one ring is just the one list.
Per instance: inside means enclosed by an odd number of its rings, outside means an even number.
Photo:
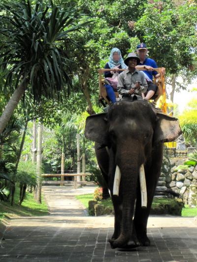
[{"label": "thick leaning bare trunk of the large spiky palm", "polygon": [[27,80],[24,80],[14,91],[12,97],[10,98],[9,102],[7,103],[2,115],[0,116],[0,134],[3,132],[7,122],[9,121],[10,117],[12,116],[14,109],[17,107],[22,95],[25,92],[28,83]]}]

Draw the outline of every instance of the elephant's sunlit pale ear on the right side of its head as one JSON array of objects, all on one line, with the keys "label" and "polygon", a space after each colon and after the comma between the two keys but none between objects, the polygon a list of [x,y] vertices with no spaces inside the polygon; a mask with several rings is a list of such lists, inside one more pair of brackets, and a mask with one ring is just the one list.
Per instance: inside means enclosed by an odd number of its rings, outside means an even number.
[{"label": "elephant's sunlit pale ear on the right side of its head", "polygon": [[157,113],[157,122],[154,128],[154,144],[174,141],[181,133],[177,118]]}]

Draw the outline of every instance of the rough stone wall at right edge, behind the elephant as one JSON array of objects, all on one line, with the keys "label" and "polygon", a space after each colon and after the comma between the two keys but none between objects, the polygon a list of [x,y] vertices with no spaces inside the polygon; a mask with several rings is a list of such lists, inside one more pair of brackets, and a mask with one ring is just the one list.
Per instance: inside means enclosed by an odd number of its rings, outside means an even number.
[{"label": "rough stone wall at right edge, behind the elephant", "polygon": [[190,185],[197,185],[197,166],[178,171],[176,169],[177,166],[183,165],[184,162],[188,160],[188,153],[191,153],[191,151],[192,150],[190,149],[187,151],[176,151],[175,148],[168,149],[168,156],[171,163],[171,174],[165,175],[165,186],[182,195],[185,204],[188,204]]}]

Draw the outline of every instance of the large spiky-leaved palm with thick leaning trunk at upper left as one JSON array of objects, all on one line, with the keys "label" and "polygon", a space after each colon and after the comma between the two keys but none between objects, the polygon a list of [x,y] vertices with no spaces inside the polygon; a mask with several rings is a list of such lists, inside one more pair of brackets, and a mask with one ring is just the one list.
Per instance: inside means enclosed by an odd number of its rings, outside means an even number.
[{"label": "large spiky-leaved palm with thick leaning trunk at upper left", "polygon": [[[72,31],[79,30],[90,21],[78,24],[82,16],[73,8],[61,10],[42,1],[31,5],[30,0],[3,4],[0,16],[0,59],[5,73],[5,85],[15,91],[0,116],[0,133],[11,117],[27,88],[31,88],[34,101],[41,96],[58,99],[65,94],[64,86],[71,85],[70,60],[63,43]],[[65,46],[65,45],[64,45]]]}]

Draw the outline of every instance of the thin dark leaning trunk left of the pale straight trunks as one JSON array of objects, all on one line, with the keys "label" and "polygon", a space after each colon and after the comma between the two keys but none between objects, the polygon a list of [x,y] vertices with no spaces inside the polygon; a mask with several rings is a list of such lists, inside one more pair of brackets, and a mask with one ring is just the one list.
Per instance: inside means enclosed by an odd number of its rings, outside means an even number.
[{"label": "thin dark leaning trunk left of the pale straight trunks", "polygon": [[12,184],[12,186],[11,186],[11,205],[13,205],[13,203],[14,203],[15,183],[16,183],[15,178],[16,178],[16,173],[17,173],[17,169],[18,169],[18,164],[19,164],[21,154],[22,154],[22,151],[23,151],[23,146],[24,146],[24,142],[25,142],[25,136],[26,136],[27,128],[28,128],[28,120],[26,120],[26,122],[25,122],[23,137],[22,137],[22,140],[21,140],[21,145],[20,145],[18,157],[17,157],[17,160],[16,160],[15,171],[14,171],[14,174],[13,174],[14,184]]}]

